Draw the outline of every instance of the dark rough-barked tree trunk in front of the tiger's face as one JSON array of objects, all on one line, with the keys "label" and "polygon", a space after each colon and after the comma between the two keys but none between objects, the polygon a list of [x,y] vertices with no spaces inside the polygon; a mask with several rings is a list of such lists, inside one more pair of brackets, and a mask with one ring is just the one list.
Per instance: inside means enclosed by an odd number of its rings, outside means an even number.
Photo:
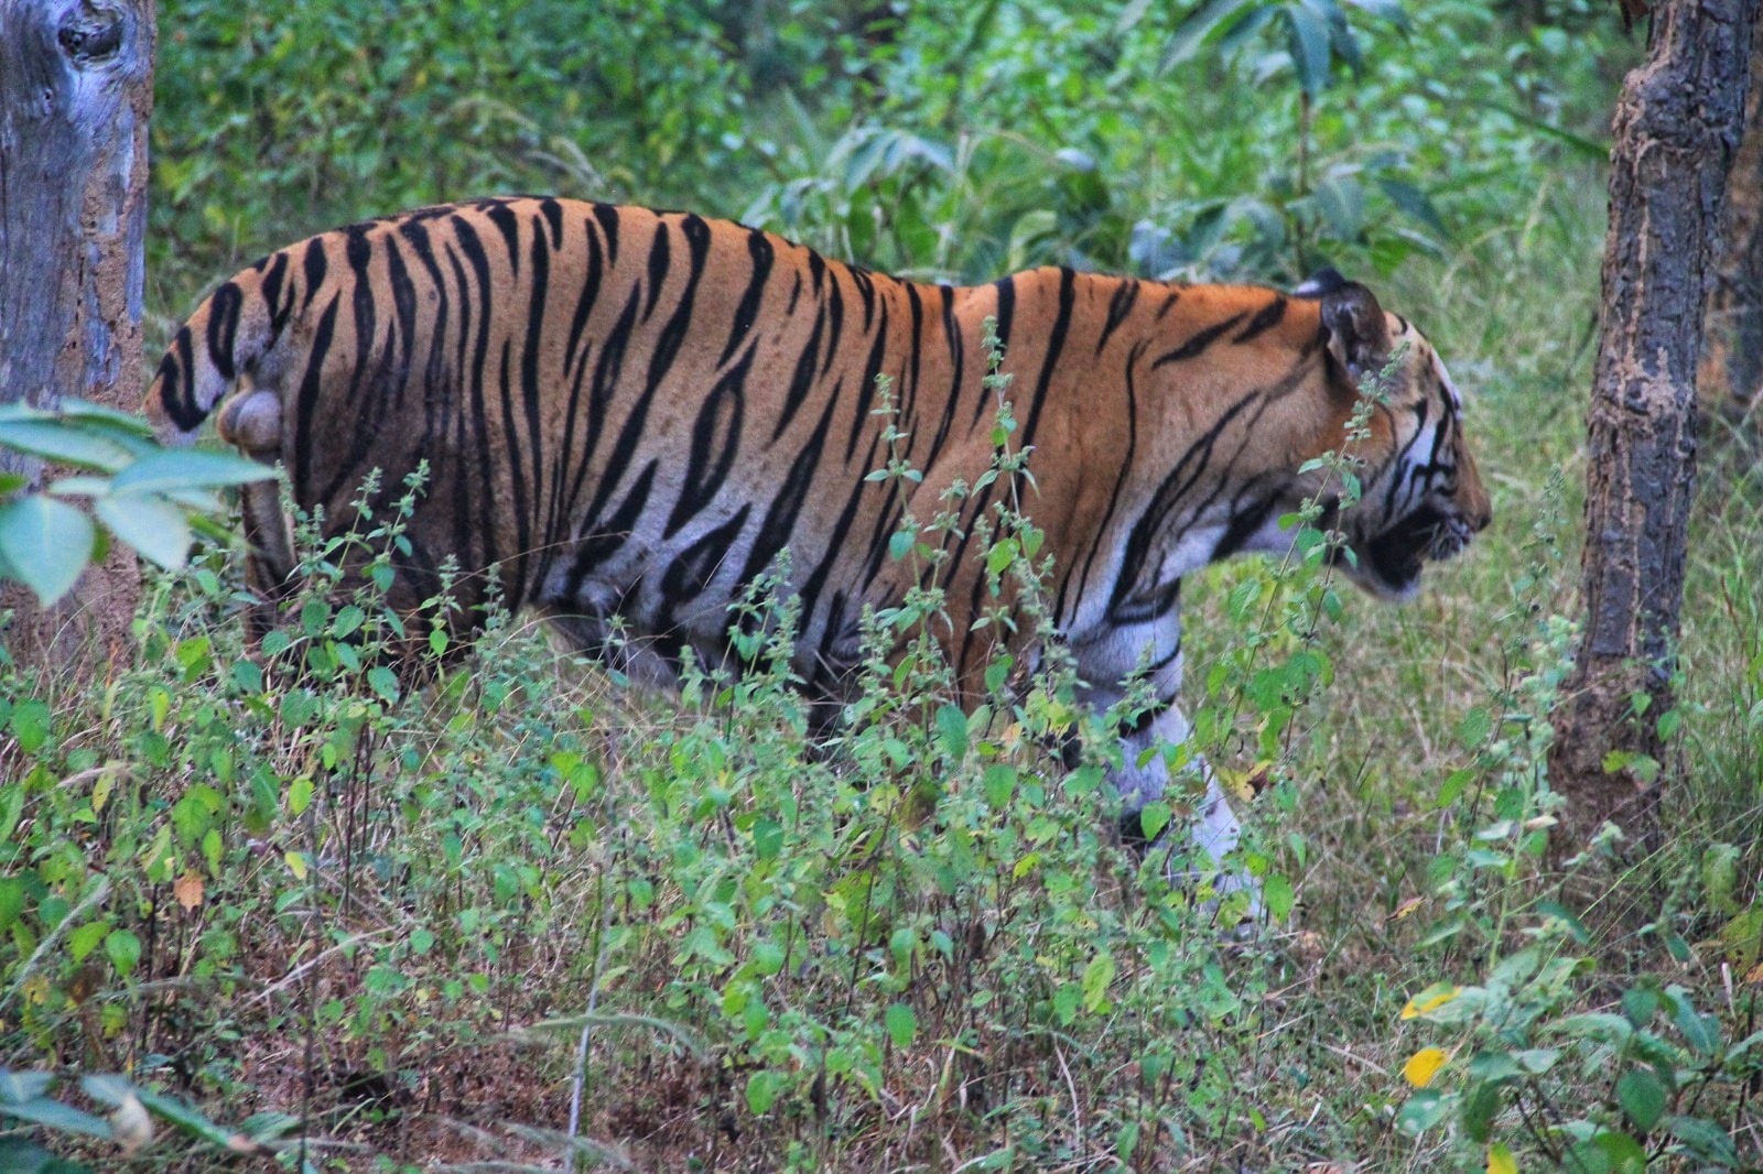
[{"label": "dark rough-barked tree trunk in front of the tiger's face", "polygon": [[1671,774],[1659,719],[1673,707],[1696,485],[1696,360],[1756,16],[1758,0],[1664,0],[1648,58],[1617,102],[1587,442],[1587,615],[1550,753],[1567,800],[1566,853],[1606,820],[1650,843]]}]

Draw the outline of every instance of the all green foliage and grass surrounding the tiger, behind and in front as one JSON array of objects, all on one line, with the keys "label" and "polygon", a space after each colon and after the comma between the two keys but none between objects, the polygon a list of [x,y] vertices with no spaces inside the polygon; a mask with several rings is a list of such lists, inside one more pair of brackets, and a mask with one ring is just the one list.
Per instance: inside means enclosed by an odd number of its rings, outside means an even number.
[{"label": "all green foliage and grass surrounding the tiger, behind and in front", "polygon": [[[291,238],[490,190],[693,206],[964,279],[1333,263],[1469,390],[1495,525],[1400,610],[1340,591],[1308,527],[1285,562],[1188,592],[1195,744],[1165,753],[1266,784],[1241,855],[1268,917],[1245,941],[1204,885],[1114,843],[1112,726],[1072,709],[1056,659],[948,703],[913,635],[934,598],[876,617],[878,647],[910,652],[876,658],[829,746],[763,596],[756,672],[700,666],[654,698],[501,615],[471,649],[411,631],[379,603],[390,568],[337,598],[338,550],[312,541],[250,652],[238,555],[208,550],[153,580],[108,679],[0,666],[0,1118],[44,1126],[0,1156],[1763,1162],[1763,474],[1742,439],[1710,437],[1682,705],[1650,716],[1682,747],[1663,844],[1615,876],[1611,843],[1543,851],[1604,123],[1640,51],[1604,5],[167,0],[159,19],[150,338]],[[1031,592],[1014,460],[978,557]],[[896,554],[934,559],[919,522]],[[413,636],[448,658],[427,682],[374,656]],[[104,1072],[130,1082],[74,1079]],[[106,1135],[139,1141],[143,1114],[182,1133],[123,1156]]]}]

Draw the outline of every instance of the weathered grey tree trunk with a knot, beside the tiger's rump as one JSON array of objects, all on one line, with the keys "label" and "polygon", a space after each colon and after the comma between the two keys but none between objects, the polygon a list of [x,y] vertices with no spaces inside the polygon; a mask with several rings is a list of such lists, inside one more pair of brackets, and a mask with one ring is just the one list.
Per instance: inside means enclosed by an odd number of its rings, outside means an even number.
[{"label": "weathered grey tree trunk with a knot, beside the tiger's rump", "polygon": [[[0,402],[139,409],[152,106],[153,0],[0,0]],[[42,476],[5,453],[0,471]],[[116,548],[72,603],[7,591],[4,642],[44,668],[93,668],[138,598]]]}]

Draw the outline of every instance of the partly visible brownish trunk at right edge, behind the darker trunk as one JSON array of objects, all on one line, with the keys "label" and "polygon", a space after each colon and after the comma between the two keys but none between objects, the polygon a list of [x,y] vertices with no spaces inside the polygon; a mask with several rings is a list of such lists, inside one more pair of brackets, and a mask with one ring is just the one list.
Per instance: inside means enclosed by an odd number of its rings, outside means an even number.
[{"label": "partly visible brownish trunk at right edge, behind the darker trunk", "polygon": [[1721,261],[1708,296],[1701,400],[1735,416],[1763,391],[1763,21],[1751,33],[1745,137],[1726,180]]}]

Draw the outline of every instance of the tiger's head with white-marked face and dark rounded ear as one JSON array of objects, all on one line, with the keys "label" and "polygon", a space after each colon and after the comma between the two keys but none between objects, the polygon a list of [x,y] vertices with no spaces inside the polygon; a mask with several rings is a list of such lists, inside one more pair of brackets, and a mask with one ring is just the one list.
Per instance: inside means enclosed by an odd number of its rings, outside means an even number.
[{"label": "tiger's head with white-marked face and dark rounded ear", "polygon": [[1491,518],[1463,435],[1462,395],[1432,344],[1365,286],[1322,270],[1292,294],[1320,301],[1331,395],[1350,414],[1361,383],[1377,377],[1380,397],[1370,437],[1350,448],[1365,460],[1361,497],[1324,518],[1354,552],[1338,562],[1370,594],[1412,599],[1425,564],[1460,554]]}]

